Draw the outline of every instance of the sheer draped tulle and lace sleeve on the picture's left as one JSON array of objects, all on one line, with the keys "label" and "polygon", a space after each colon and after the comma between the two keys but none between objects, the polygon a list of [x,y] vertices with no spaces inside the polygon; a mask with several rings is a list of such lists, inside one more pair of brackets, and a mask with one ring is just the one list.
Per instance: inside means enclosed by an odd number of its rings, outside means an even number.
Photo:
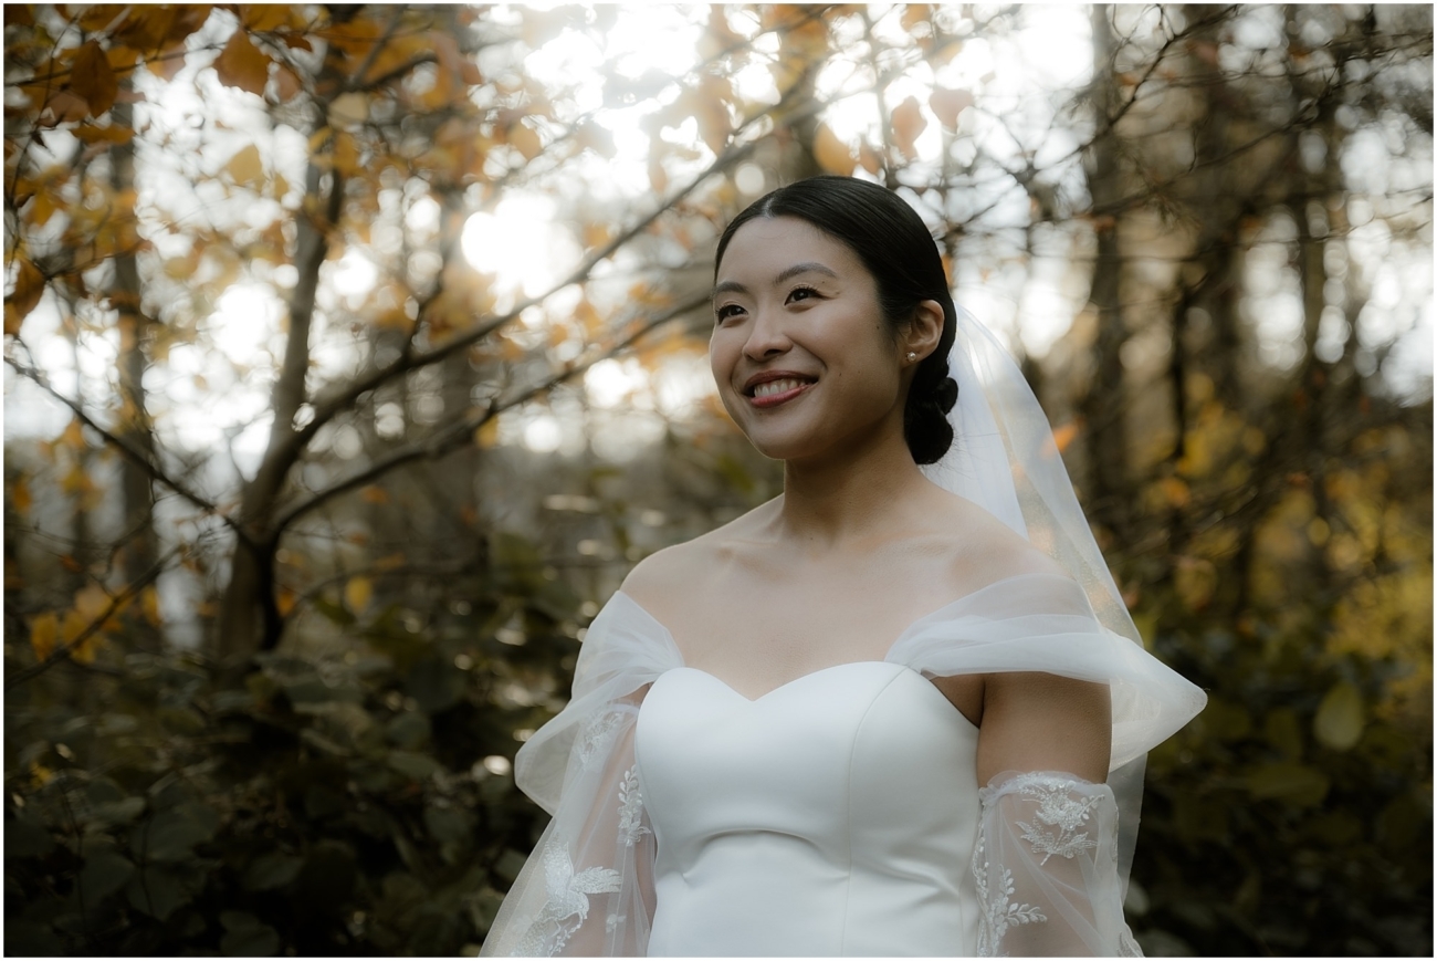
[{"label": "sheer draped tulle and lace sleeve on the picture's left", "polygon": [[683,659],[668,633],[615,594],[589,627],[573,701],[514,761],[553,814],[484,939],[483,955],[642,955],[654,915],[654,833],[634,761],[647,686]]}]

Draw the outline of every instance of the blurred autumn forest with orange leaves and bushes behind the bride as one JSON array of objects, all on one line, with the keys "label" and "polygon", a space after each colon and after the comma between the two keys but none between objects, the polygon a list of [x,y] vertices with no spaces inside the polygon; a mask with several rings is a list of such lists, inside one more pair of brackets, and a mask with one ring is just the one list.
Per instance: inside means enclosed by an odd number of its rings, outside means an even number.
[{"label": "blurred autumn forest with orange leaves and bushes behind the bride", "polygon": [[724,222],[907,199],[1150,647],[1148,954],[1430,955],[1430,6],[6,6],[4,948],[473,954]]}]

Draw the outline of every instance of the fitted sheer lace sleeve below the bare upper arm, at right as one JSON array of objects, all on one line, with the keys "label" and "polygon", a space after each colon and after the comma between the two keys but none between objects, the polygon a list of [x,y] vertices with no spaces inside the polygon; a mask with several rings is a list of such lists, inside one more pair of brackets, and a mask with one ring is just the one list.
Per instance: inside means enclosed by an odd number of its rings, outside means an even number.
[{"label": "fitted sheer lace sleeve below the bare upper arm, at right", "polygon": [[979,791],[979,957],[1141,957],[1122,918],[1106,784],[1006,771]]}]

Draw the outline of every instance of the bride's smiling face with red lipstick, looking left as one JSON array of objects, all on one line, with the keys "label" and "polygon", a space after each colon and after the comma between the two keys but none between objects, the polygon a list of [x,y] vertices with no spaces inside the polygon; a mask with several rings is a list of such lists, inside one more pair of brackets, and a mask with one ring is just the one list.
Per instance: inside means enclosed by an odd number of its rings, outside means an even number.
[{"label": "bride's smiling face with red lipstick, looking left", "polygon": [[842,242],[796,217],[750,220],[718,263],[713,306],[718,396],[760,453],[803,459],[901,434],[901,338]]}]

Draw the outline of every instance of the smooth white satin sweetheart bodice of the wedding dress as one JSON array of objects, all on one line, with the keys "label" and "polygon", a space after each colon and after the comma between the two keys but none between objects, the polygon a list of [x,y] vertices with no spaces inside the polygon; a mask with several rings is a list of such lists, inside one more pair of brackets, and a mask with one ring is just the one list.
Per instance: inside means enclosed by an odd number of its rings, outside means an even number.
[{"label": "smooth white satin sweetheart bodice of the wedding dress", "polygon": [[828,668],[749,701],[691,668],[635,731],[655,955],[971,954],[977,729],[915,670]]}]

